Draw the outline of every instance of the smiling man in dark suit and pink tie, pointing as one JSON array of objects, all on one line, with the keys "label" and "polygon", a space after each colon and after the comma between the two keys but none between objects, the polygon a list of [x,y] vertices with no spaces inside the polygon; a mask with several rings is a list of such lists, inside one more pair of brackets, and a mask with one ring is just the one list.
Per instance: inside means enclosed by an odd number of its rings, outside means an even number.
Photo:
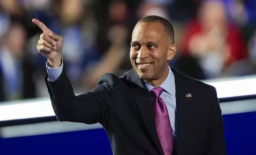
[{"label": "smiling man in dark suit and pink tie, pointing", "polygon": [[169,66],[177,47],[166,19],[138,21],[130,49],[133,69],[122,77],[104,74],[78,96],[62,64],[62,37],[33,22],[44,31],[37,49],[48,59],[45,81],[59,121],[101,123],[114,155],[226,154],[216,90]]}]

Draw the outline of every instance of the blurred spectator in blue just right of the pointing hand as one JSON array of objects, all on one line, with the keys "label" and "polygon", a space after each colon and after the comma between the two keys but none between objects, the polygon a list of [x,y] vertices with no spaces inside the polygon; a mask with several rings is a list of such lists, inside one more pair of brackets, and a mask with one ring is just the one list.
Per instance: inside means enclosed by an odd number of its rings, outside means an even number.
[{"label": "blurred spectator in blue just right of the pointing hand", "polygon": [[[83,80],[83,72],[91,62],[97,62],[99,55],[94,48],[97,26],[91,19],[91,10],[83,0],[62,0],[60,2],[59,29],[64,39],[63,59],[75,87]],[[72,51],[72,53],[70,53]]]}]

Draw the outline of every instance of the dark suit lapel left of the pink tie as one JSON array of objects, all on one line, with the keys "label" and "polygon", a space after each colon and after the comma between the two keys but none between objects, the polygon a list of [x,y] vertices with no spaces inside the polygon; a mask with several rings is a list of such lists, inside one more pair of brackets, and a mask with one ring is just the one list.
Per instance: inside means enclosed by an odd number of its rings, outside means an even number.
[{"label": "dark suit lapel left of the pink tie", "polygon": [[[128,75],[128,80],[132,81],[137,85],[137,87],[132,87],[131,92],[135,98],[136,104],[138,106],[138,110],[141,113],[142,120],[145,123],[145,127],[147,128],[152,140],[153,146],[157,148],[159,154],[164,155],[163,149],[161,147],[157,131],[155,128],[155,117],[153,111],[153,100],[151,98],[151,94],[149,93],[147,87],[143,83],[143,81],[138,77],[138,74],[134,69],[130,70]],[[152,142],[150,140],[150,142]]]}]

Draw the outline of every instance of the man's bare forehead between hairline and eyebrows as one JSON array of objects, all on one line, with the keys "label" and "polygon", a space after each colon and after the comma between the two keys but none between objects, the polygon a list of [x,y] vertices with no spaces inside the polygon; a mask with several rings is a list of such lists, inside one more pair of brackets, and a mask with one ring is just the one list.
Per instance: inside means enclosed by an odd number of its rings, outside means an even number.
[{"label": "man's bare forehead between hairline and eyebrows", "polygon": [[138,23],[132,32],[132,41],[155,41],[160,42],[165,37],[164,27],[161,23]]}]

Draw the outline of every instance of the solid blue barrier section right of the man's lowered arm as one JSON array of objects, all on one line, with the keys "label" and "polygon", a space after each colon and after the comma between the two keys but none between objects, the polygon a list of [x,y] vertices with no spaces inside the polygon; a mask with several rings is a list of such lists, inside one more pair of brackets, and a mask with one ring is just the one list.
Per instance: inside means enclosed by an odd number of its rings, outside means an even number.
[{"label": "solid blue barrier section right of the man's lowered arm", "polygon": [[256,112],[223,115],[228,155],[256,155]]}]

